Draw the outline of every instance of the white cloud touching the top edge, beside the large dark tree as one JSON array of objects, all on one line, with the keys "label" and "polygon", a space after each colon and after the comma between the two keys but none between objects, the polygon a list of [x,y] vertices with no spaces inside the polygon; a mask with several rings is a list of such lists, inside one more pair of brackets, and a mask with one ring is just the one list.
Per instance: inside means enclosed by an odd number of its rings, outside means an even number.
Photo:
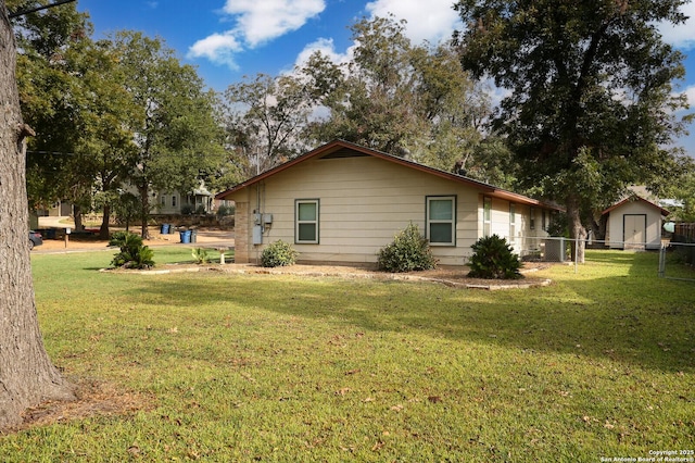
[{"label": "white cloud touching the top edge, beside the large dark tree", "polygon": [[396,20],[405,20],[405,34],[415,45],[422,40],[435,45],[450,39],[454,29],[462,27],[453,4],[452,0],[376,0],[365,9],[372,17],[387,17],[391,13]]}]

